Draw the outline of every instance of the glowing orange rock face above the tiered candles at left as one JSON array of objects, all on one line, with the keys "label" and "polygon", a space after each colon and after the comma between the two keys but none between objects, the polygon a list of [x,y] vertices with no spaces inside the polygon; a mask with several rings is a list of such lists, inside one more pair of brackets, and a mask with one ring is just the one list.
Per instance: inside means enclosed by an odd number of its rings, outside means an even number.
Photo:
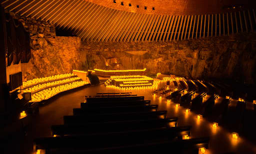
[{"label": "glowing orange rock face above the tiered candles at left", "polygon": [[80,69],[80,39],[50,37],[31,39],[31,59],[23,68],[23,81]]}]

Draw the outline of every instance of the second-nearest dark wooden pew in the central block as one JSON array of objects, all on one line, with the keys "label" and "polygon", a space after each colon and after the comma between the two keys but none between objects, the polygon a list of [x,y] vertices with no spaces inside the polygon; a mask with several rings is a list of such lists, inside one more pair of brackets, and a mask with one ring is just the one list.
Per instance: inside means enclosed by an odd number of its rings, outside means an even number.
[{"label": "second-nearest dark wooden pew in the central block", "polygon": [[177,118],[168,119],[146,119],[132,121],[117,121],[105,123],[85,123],[85,124],[70,124],[70,125],[53,125],[51,126],[52,135],[75,135],[75,134],[93,134],[93,133],[110,133],[124,132],[130,130],[150,129],[169,127],[170,123],[175,123]]}]

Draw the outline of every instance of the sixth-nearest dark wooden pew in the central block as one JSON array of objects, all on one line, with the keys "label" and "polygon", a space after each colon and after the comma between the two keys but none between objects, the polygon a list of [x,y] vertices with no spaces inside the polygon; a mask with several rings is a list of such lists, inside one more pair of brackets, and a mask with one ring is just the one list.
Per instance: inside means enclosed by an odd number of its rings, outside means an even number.
[{"label": "sixth-nearest dark wooden pew in the central block", "polygon": [[88,97],[86,101],[89,102],[114,102],[114,101],[142,101],[144,96],[127,96],[127,97]]}]

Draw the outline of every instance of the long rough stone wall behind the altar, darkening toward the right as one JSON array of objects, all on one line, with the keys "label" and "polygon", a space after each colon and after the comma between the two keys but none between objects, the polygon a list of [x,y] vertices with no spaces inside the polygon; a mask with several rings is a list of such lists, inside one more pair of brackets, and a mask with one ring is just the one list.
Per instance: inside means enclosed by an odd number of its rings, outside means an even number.
[{"label": "long rough stone wall behind the altar, darkening toward the right", "polygon": [[[130,52],[132,51],[132,52]],[[147,69],[189,78],[255,83],[256,34],[174,42],[83,42],[82,68]]]}]

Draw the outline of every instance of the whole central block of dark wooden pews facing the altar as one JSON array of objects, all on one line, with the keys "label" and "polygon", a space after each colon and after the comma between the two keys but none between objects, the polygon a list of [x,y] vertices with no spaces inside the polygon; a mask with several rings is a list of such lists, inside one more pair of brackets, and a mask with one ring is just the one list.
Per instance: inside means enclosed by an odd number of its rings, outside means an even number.
[{"label": "whole central block of dark wooden pews facing the altar", "polygon": [[209,138],[182,140],[191,126],[177,126],[177,118],[158,111],[143,96],[90,97],[63,125],[51,127],[53,137],[34,140],[46,154],[98,152],[166,152],[198,154],[208,148]]}]

